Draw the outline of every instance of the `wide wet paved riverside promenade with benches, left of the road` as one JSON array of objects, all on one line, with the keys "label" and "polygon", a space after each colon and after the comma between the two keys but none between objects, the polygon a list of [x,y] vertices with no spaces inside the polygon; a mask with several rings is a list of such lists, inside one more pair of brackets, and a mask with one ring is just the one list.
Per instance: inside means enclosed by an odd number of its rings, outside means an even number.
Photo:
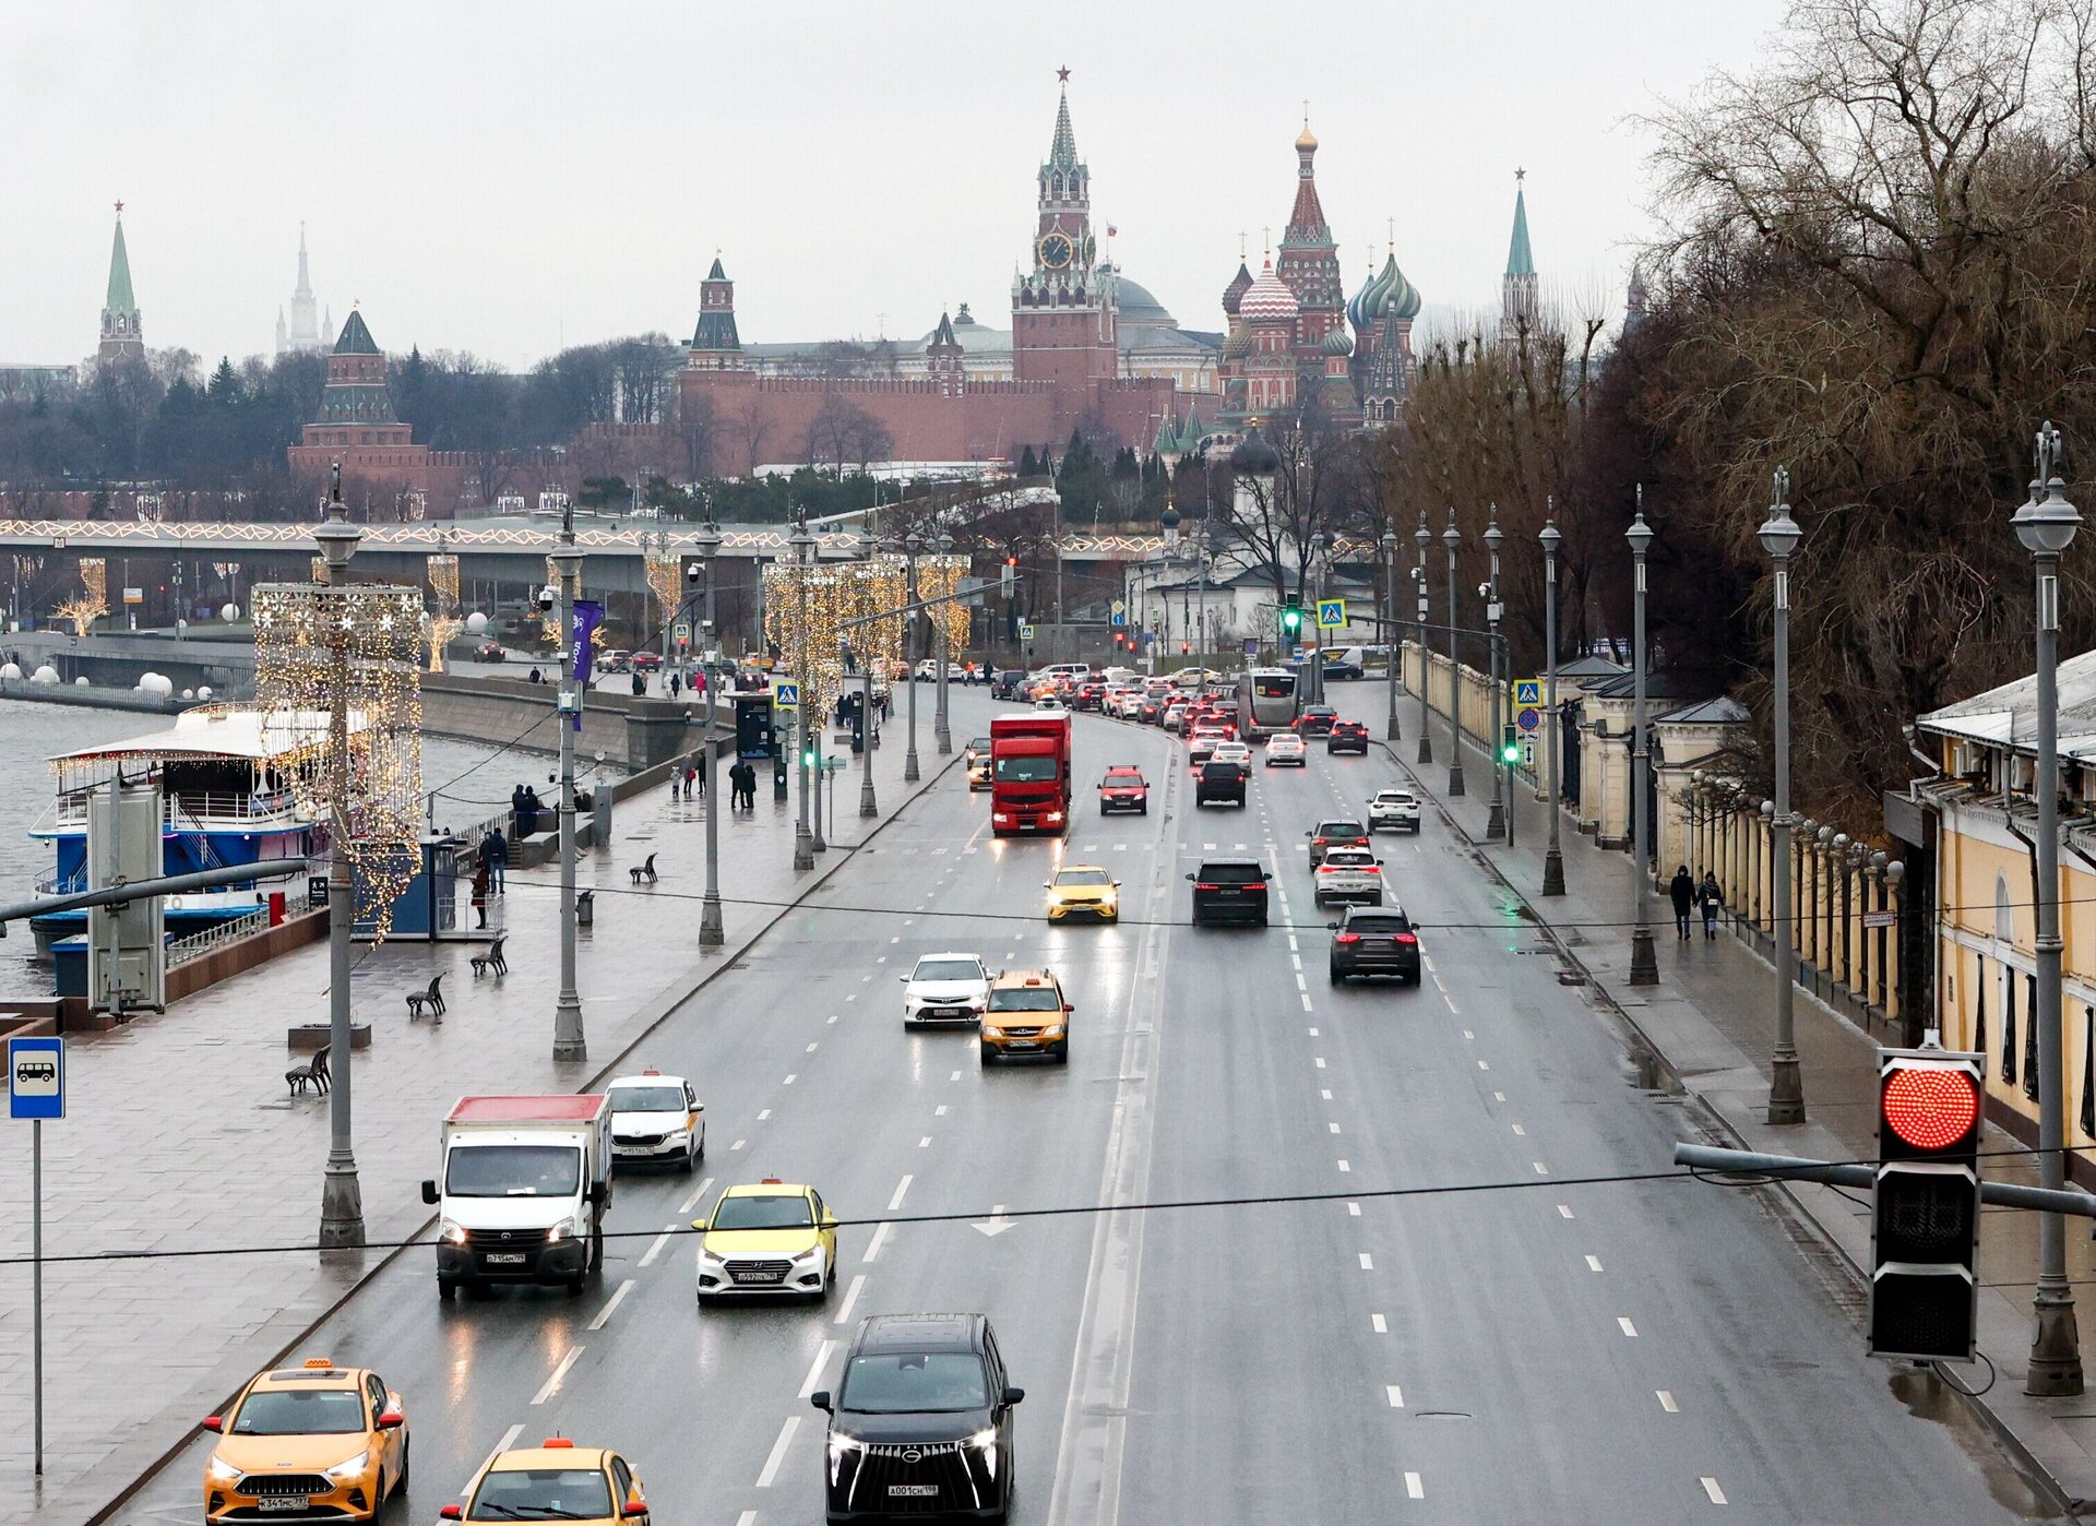
[{"label": "wide wet paved riverside promenade with benches, left of the road", "polygon": [[[956,694],[956,715],[964,711]],[[851,845],[931,788],[958,761],[939,757],[920,717],[922,782],[903,784],[903,744],[887,727],[874,750],[880,818],[861,822],[859,763],[834,776],[830,851],[792,870],[794,803],[771,799],[759,771],[757,809],[719,822],[727,943],[698,947],[706,799],[671,801],[667,784],[623,801],[612,841],[585,849],[578,889],[595,891],[595,924],[576,950],[589,1059],[555,1063],[560,866],[511,866],[490,899],[509,973],[476,979],[467,958],[486,943],[358,945],[354,1021],[371,1048],[333,1056],[352,1073],[365,1251],[67,1262],[44,1274],[46,1478],[29,1467],[29,1268],[6,1270],[0,1302],[0,1413],[17,1436],[0,1459],[0,1497],[36,1501],[40,1520],[82,1522],[107,1505],[197,1419],[340,1304],[430,1218],[419,1182],[434,1165],[436,1121],[465,1092],[574,1092],[614,1073],[618,1056],[679,1012],[790,901],[845,864]],[[960,740],[970,732],[960,729]],[[958,742],[956,742],[958,748]],[[520,759],[520,776],[543,759]],[[725,767],[721,769],[725,786]],[[725,797],[723,797],[725,799]],[[631,868],[656,855],[656,882]],[[472,924],[463,903],[461,924]],[[409,1021],[405,996],[444,977],[442,1023]],[[327,1019],[327,945],[314,943],[199,991],[166,1015],[69,1040],[67,1117],[44,1128],[44,1254],[178,1251],[312,1243],[319,1230],[327,1100],[287,1096],[291,1023]],[[29,1247],[29,1136],[6,1134],[0,1243]]]}]

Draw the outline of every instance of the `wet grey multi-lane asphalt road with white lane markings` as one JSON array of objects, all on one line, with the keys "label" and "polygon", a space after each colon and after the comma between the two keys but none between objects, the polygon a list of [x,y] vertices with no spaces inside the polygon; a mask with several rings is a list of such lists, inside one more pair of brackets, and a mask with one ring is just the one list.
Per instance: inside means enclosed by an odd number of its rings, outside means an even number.
[{"label": "wet grey multi-lane asphalt road with white lane markings", "polygon": [[[1381,729],[1381,688],[1335,688]],[[956,690],[956,746],[998,708]],[[1067,845],[996,843],[954,769],[643,1044],[635,1069],[696,1080],[706,1159],[620,1178],[585,1298],[440,1302],[409,1251],[302,1344],[405,1394],[396,1520],[560,1432],[623,1451],[656,1522],[820,1522],[805,1396],[864,1314],[908,1310],[996,1321],[1027,1388],[1019,1522],[2044,1518],[1953,1407],[1897,1396],[1912,1379],[1863,1358],[1842,1281],[1752,1193],[1576,1182],[1666,1172],[1694,1119],[1635,1084],[1432,815],[1379,841],[1427,979],[1327,983],[1304,834],[1402,776],[1379,748],[1314,744],[1302,771],[1256,769],[1247,809],[1197,811],[1176,738],[1075,727],[1079,784],[1140,763],[1149,815],[1100,820],[1079,790]],[[929,708],[920,742],[931,761]],[[1279,866],[1272,929],[1186,926],[1205,851]],[[1056,857],[1111,868],[1126,920],[1050,929]],[[968,1033],[905,1033],[897,979],[939,950],[1052,966],[1071,1065],[985,1071]],[[836,1291],[700,1312],[694,1241],[664,1230],[759,1176],[855,1220]],[[1490,1191],[1385,1195],[1463,1184]],[[991,1218],[1216,1197],[1308,1201]],[[937,1214],[970,1218],[910,1222]],[[115,1518],[199,1520],[203,1455]]]}]

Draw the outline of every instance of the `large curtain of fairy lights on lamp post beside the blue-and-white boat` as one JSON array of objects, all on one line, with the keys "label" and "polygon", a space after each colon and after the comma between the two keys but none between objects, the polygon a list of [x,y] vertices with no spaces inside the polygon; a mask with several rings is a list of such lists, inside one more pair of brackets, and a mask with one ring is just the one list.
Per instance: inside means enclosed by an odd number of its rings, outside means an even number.
[{"label": "large curtain of fairy lights on lamp post beside the blue-and-white boat", "polygon": [[[358,924],[384,941],[392,906],[421,868],[423,600],[417,587],[262,583],[249,595],[256,708],[302,813],[340,815]],[[329,767],[329,713],[348,715],[342,801]]]}]

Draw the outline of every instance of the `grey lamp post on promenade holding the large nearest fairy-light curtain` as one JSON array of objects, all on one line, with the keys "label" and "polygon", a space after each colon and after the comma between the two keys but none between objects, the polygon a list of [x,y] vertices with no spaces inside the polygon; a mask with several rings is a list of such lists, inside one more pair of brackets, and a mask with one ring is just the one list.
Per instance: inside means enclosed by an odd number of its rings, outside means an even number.
[{"label": "grey lamp post on promenade holding the large nearest fairy-light curtain", "polygon": [[[327,520],[312,532],[327,566],[327,587],[344,589],[350,558],[363,530],[348,522],[342,501],[342,463],[335,463]],[[323,606],[325,608],[325,606]],[[331,623],[333,694],[327,706],[327,1044],[335,1059],[327,1098],[327,1168],[321,1176],[321,1245],[365,1243],[365,1195],[350,1144],[350,922],[356,916],[356,887],[350,880],[350,646],[342,620]]]}]

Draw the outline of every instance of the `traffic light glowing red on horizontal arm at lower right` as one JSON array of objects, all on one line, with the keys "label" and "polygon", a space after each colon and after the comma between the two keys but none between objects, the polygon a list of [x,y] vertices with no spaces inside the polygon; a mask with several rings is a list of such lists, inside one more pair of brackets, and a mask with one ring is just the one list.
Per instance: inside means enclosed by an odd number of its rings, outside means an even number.
[{"label": "traffic light glowing red on horizontal arm at lower right", "polygon": [[1985,1056],[1880,1050],[1870,1354],[1972,1360]]}]

